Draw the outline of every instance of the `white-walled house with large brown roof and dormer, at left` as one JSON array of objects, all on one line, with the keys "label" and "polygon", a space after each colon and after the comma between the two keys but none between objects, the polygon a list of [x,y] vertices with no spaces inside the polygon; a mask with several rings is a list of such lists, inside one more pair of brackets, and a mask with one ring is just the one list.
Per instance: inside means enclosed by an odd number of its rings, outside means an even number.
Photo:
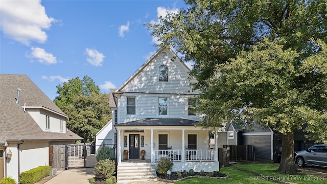
[{"label": "white-walled house with large brown roof and dormer, at left", "polygon": [[0,180],[19,182],[21,172],[49,165],[50,145],[82,140],[67,120],[28,76],[0,74]]}]

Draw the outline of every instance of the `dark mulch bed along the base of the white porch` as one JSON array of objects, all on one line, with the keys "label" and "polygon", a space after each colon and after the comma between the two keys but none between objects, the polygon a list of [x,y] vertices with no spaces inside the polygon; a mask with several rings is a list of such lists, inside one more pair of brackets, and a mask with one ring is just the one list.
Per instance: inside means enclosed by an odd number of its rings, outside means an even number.
[{"label": "dark mulch bed along the base of the white porch", "polygon": [[194,174],[190,174],[188,172],[179,172],[181,175],[177,175],[178,172],[171,172],[170,177],[168,177],[167,174],[159,174],[157,173],[157,177],[159,178],[159,180],[163,180],[163,181],[170,181],[170,182],[174,182],[174,181],[179,181],[182,179],[186,179],[186,178],[191,178],[191,177],[206,177],[206,178],[220,178],[220,179],[225,179],[226,177],[228,177],[226,174],[220,173],[220,172],[195,172]]}]

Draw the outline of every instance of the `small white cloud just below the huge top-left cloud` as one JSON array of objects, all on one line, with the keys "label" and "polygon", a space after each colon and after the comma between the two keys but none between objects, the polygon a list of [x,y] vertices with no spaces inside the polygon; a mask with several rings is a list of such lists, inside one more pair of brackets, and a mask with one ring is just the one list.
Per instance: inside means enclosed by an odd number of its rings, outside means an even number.
[{"label": "small white cloud just below the huge top-left cloud", "polygon": [[41,48],[31,48],[31,55],[28,57],[36,58],[38,62],[44,64],[56,64],[57,58],[51,53],[46,53],[44,49]]}]

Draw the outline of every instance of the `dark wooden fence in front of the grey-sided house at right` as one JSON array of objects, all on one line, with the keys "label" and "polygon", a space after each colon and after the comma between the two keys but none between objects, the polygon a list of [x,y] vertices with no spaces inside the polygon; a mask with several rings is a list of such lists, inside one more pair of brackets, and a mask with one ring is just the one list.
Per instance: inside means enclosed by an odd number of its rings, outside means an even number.
[{"label": "dark wooden fence in front of the grey-sided house at right", "polygon": [[253,160],[252,145],[224,145],[229,152],[230,161]]}]

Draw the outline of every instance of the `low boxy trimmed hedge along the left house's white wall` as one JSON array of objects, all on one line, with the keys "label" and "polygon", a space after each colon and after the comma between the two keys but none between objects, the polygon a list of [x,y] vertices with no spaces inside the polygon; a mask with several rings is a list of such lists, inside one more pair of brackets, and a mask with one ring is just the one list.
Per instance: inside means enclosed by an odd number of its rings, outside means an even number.
[{"label": "low boxy trimmed hedge along the left house's white wall", "polygon": [[45,176],[49,176],[51,166],[39,166],[37,168],[20,173],[20,183],[30,184],[35,183]]}]

